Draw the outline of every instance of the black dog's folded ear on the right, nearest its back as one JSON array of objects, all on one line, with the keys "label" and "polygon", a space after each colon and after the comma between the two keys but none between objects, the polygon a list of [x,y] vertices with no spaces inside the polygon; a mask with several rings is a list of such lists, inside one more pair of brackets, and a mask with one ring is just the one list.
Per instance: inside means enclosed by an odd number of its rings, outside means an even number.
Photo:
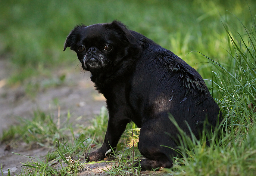
[{"label": "black dog's folded ear on the right, nearest its back", "polygon": [[127,29],[127,26],[125,26],[123,23],[121,23],[120,21],[114,20],[112,23],[109,23],[109,24],[111,27],[119,29],[130,44],[133,44],[133,45],[136,44],[136,38],[133,36],[130,30]]}]

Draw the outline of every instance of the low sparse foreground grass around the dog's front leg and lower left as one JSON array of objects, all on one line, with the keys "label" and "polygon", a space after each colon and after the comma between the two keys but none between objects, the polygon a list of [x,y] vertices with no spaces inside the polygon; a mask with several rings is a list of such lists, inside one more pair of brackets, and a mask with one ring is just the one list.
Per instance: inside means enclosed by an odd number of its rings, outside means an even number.
[{"label": "low sparse foreground grass around the dog's front leg and lower left", "polygon": [[[58,102],[55,103],[58,104]],[[29,145],[39,144],[51,149],[44,160],[24,156],[31,161],[23,163],[24,168],[19,175],[72,175],[86,166],[87,163],[82,161],[84,154],[90,151],[90,145],[93,142],[100,147],[107,129],[108,112],[105,107],[102,107],[100,114],[92,120],[91,126],[77,129],[76,132],[69,123],[70,114],[67,114],[67,120],[60,126],[51,115],[36,111],[31,120],[23,119],[20,125],[11,126],[8,131],[4,131],[2,142],[23,140]],[[82,132],[77,134],[78,131]],[[120,139],[117,151],[113,155],[114,164],[110,165],[111,169],[107,171],[108,173],[122,172],[123,175],[139,173],[133,167],[134,157],[138,159],[141,156],[136,147],[138,134],[139,128],[136,128],[134,123],[127,125],[126,134]],[[96,135],[98,137],[95,137]],[[135,147],[132,141],[135,141]],[[135,151],[132,150],[133,147]],[[89,164],[92,163],[97,162]]]}]

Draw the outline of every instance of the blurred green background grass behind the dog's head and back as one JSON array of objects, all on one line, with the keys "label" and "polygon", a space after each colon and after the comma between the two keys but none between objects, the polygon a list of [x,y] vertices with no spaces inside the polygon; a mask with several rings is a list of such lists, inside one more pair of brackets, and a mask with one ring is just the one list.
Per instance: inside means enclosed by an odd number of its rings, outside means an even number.
[{"label": "blurred green background grass behind the dog's head and back", "polygon": [[[248,0],[254,10],[254,1]],[[63,52],[63,43],[76,24],[106,23],[121,20],[130,29],[170,49],[210,79],[210,64],[190,51],[200,51],[210,58],[226,61],[223,46],[228,44],[221,21],[237,30],[250,24],[244,0],[225,2],[200,0],[146,1],[27,1],[0,2],[0,54],[14,64],[11,84],[23,82],[44,69],[69,66],[78,60],[74,52]],[[252,11],[255,13],[255,11]],[[188,54],[188,55],[186,55]]]}]

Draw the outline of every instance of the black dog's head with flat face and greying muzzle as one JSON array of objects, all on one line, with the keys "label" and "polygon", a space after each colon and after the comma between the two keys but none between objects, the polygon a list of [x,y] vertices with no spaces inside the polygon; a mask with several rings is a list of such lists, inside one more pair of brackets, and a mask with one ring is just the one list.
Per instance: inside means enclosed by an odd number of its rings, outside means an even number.
[{"label": "black dog's head with flat face and greying muzzle", "polygon": [[122,23],[113,21],[76,26],[67,36],[64,51],[67,47],[76,51],[83,69],[97,74],[118,67],[134,44],[136,39],[130,30]]}]

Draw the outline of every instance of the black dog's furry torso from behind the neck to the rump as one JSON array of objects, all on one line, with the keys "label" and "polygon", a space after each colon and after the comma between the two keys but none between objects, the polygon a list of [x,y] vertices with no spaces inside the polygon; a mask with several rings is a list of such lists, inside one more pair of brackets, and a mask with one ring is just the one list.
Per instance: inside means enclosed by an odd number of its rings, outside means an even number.
[{"label": "black dog's furry torso from behind the neck to the rump", "polygon": [[171,51],[145,37],[143,42],[148,46],[135,63],[131,82],[136,114],[170,113],[179,125],[187,121],[192,129],[207,118],[215,126],[222,114],[199,73]]}]

